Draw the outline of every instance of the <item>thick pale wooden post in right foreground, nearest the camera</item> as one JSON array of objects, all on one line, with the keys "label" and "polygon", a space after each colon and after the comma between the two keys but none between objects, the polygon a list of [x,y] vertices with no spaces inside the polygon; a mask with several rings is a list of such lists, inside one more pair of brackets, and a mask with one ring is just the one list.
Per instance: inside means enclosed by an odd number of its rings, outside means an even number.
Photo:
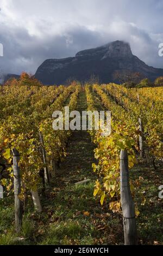
[{"label": "thick pale wooden post in right foreground, nearest the camera", "polygon": [[131,196],[127,150],[121,150],[121,205],[123,212],[124,244],[137,245],[135,204]]}]

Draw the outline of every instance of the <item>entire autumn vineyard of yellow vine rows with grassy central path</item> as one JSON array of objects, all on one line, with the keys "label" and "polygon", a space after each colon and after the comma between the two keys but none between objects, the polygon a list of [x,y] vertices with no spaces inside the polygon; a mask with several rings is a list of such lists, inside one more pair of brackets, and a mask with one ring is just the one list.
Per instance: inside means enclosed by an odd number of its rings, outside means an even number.
[{"label": "entire autumn vineyard of yellow vine rows with grassy central path", "polygon": [[[0,244],[123,245],[126,152],[136,241],[162,245],[162,95],[163,87],[43,86],[25,73],[2,86]],[[52,114],[65,106],[111,111],[111,134],[53,130]]]}]

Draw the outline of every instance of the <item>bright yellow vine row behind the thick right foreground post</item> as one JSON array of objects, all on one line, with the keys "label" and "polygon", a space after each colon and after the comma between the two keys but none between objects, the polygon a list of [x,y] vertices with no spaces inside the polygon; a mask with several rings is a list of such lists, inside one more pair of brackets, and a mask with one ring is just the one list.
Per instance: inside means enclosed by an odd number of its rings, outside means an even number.
[{"label": "bright yellow vine row behind the thick right foreground post", "polygon": [[[129,167],[136,163],[134,148],[137,148],[137,129],[127,120],[125,111],[116,108],[116,104],[108,99],[100,86],[94,85],[93,90],[101,98],[105,109],[111,110],[111,134],[102,136],[101,130],[92,133],[93,142],[96,144],[95,158],[98,163],[93,163],[93,171],[99,175],[96,181],[94,195],[99,195],[101,204],[104,199],[109,200],[110,209],[120,211],[120,151],[126,148],[129,153]],[[89,87],[86,87],[88,109],[93,108],[93,98]],[[95,104],[94,104],[95,105]]]}]

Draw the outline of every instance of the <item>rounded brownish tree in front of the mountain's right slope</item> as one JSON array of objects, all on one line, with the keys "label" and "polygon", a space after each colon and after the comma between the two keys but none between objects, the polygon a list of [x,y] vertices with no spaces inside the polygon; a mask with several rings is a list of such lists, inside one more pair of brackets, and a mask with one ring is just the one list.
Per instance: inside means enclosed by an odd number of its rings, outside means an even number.
[{"label": "rounded brownish tree in front of the mountain's right slope", "polygon": [[139,72],[132,72],[131,70],[117,70],[114,73],[114,79],[124,84],[127,88],[135,87],[135,85],[142,79],[142,74]]}]

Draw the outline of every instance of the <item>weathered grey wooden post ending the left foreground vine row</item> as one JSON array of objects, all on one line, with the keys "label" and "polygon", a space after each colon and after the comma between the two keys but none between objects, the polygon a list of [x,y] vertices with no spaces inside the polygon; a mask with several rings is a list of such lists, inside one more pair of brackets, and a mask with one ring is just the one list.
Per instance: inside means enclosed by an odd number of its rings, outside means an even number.
[{"label": "weathered grey wooden post ending the left foreground vine row", "polygon": [[20,154],[13,148],[13,170],[14,170],[14,197],[15,197],[15,229],[16,232],[20,232],[22,227],[22,202],[18,196],[21,193],[21,177],[20,177],[20,167],[18,166],[18,161],[20,159]]}]

